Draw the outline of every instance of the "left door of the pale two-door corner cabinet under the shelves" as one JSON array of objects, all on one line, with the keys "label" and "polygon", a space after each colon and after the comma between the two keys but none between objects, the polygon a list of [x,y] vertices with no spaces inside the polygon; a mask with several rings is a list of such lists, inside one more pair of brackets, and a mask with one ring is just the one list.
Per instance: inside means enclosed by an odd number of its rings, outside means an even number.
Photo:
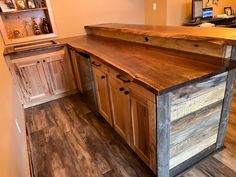
[{"label": "left door of the pale two-door corner cabinet under the shelves", "polygon": [[20,60],[19,62],[15,60],[13,65],[24,102],[50,95],[40,60],[28,59],[26,61]]}]

